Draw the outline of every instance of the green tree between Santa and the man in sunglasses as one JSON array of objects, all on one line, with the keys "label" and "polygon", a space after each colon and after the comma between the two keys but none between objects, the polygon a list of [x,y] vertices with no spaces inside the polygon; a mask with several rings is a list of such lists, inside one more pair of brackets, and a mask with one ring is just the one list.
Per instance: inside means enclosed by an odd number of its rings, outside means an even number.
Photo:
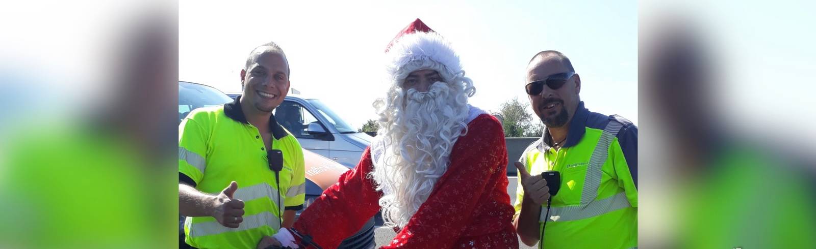
[{"label": "green tree between Santa and the man in sunglasses", "polygon": [[534,117],[527,111],[527,107],[530,107],[530,104],[521,103],[518,98],[502,103],[499,107],[499,114],[503,117],[504,137],[534,138],[541,136],[543,124],[538,117]]}]

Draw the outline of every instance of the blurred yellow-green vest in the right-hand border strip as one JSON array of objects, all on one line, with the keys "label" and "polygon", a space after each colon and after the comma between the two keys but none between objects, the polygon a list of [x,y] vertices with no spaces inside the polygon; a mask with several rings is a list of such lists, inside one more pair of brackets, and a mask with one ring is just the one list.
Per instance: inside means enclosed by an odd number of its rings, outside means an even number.
[{"label": "blurred yellow-green vest in the right-hand border strip", "polygon": [[671,231],[680,239],[661,241],[670,246],[649,246],[814,247],[813,161],[795,151],[781,151],[790,148],[769,146],[773,142],[728,136],[716,139],[705,145],[707,158],[687,169],[694,172],[694,177],[660,186],[665,189],[660,190],[661,194],[672,196],[661,205],[681,208],[664,211],[657,224],[661,228],[675,225]]}]

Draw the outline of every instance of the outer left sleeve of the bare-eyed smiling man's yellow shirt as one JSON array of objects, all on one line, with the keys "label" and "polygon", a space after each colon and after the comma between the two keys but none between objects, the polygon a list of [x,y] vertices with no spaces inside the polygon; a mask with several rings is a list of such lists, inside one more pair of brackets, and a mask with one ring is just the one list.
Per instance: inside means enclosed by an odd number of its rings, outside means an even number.
[{"label": "outer left sleeve of the bare-eyed smiling man's yellow shirt", "polygon": [[179,173],[198,184],[204,178],[206,168],[207,133],[194,120],[195,114],[193,111],[179,124]]}]

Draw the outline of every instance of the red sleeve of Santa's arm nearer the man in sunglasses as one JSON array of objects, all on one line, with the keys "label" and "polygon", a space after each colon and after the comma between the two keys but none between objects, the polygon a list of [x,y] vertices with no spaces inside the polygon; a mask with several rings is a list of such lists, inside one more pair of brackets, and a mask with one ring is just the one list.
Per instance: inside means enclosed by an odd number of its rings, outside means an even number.
[{"label": "red sleeve of Santa's arm nearer the man in sunglasses", "polygon": [[[492,118],[492,117],[490,117]],[[428,199],[383,248],[450,248],[474,221],[482,194],[491,190],[491,177],[507,177],[507,148],[498,120],[477,118],[468,135],[450,155],[450,166]],[[459,153],[455,153],[459,152]]]}]

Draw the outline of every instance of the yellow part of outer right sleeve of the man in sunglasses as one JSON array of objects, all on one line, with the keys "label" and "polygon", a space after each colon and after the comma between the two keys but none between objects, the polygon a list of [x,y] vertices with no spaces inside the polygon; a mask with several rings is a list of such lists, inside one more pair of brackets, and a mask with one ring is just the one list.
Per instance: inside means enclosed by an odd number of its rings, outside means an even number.
[{"label": "yellow part of outer right sleeve of the man in sunglasses", "polygon": [[618,185],[626,192],[632,207],[637,208],[637,127],[630,125],[622,129],[610,150]]}]

